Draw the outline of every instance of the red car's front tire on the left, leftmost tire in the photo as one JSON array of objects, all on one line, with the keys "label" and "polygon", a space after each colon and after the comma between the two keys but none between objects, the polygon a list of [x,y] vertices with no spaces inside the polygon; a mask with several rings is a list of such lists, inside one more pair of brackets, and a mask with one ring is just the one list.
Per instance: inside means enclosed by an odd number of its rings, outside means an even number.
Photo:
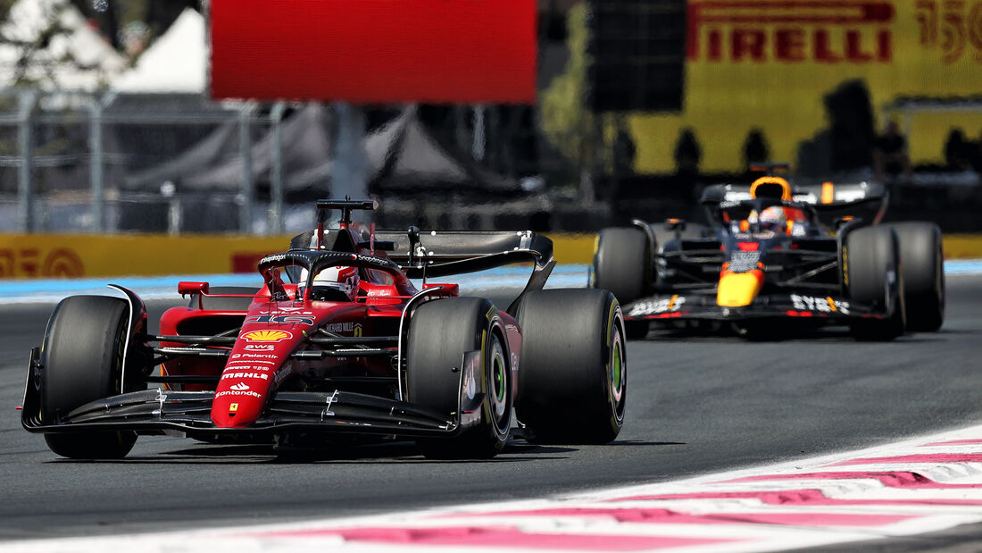
[{"label": "red car's front tire on the left, leftmost tire in the photo", "polygon": [[[41,348],[44,424],[121,393],[127,314],[125,301],[105,296],[72,296],[55,306]],[[46,433],[44,439],[62,457],[120,459],[133,449],[136,432]]]}]

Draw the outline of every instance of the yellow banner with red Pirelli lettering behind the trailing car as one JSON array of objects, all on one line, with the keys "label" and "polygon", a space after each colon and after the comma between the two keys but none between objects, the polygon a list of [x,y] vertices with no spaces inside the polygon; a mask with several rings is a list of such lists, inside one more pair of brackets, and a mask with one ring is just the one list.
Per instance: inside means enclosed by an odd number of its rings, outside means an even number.
[{"label": "yellow banner with red Pirelli lettering behind the trailing car", "polygon": [[[703,171],[739,170],[752,129],[771,159],[794,162],[798,145],[829,127],[825,95],[847,81],[865,83],[880,121],[900,96],[982,92],[982,0],[689,0],[685,75],[681,114],[631,121],[639,172],[674,170],[685,128]],[[953,128],[982,133],[978,112],[900,123],[915,163],[942,162]]]}]

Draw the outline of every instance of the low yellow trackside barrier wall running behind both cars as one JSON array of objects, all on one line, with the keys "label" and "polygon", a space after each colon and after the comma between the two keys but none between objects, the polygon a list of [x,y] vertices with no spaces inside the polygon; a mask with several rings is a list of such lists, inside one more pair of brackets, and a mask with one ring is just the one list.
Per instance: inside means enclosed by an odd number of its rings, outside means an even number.
[{"label": "low yellow trackside barrier wall running behind both cars", "polygon": [[[550,236],[560,263],[592,261],[596,235]],[[247,273],[289,236],[0,235],[0,279]],[[982,236],[945,237],[948,258],[982,258]]]}]

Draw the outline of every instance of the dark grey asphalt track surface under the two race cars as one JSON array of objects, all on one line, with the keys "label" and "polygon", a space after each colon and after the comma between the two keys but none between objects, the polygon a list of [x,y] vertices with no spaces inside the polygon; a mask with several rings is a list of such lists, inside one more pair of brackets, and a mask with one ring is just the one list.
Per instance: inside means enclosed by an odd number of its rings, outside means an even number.
[{"label": "dark grey asphalt track surface under the two race cars", "polygon": [[[0,540],[359,516],[677,479],[982,422],[982,277],[948,278],[941,332],[843,330],[749,342],[652,332],[628,345],[627,423],[607,446],[520,440],[488,462],[409,443],[278,459],[268,448],[140,437],[121,462],[60,459],[21,427],[27,349],[50,304],[0,307]],[[153,302],[151,321],[167,303]],[[978,536],[918,540],[917,550]],[[901,544],[895,543],[900,546]],[[0,543],[2,549],[2,543]]]}]

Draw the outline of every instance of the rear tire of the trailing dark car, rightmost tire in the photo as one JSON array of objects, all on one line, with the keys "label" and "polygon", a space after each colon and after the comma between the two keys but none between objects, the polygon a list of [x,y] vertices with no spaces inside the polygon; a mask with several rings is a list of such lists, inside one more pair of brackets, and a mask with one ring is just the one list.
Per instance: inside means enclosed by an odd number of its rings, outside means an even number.
[{"label": "rear tire of the trailing dark car, rightmost tire in the photo", "polygon": [[907,330],[935,332],[945,321],[945,269],[941,229],[934,223],[890,225],[900,242]]}]

